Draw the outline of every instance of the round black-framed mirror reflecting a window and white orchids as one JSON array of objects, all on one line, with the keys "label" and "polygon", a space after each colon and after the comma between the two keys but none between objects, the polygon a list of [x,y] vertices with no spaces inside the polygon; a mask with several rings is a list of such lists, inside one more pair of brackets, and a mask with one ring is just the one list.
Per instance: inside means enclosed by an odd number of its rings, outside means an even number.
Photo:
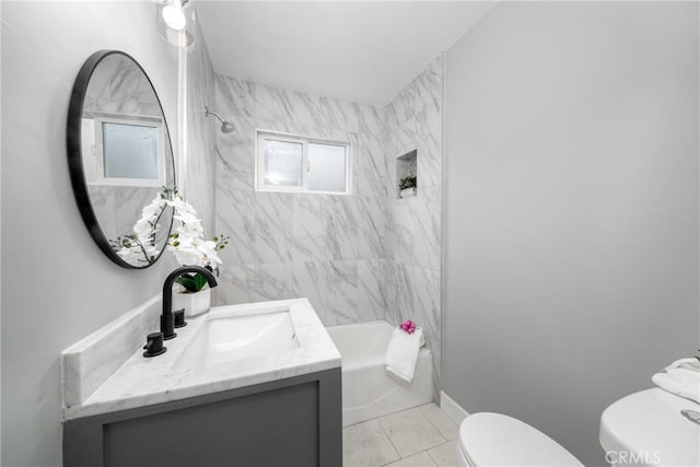
[{"label": "round black-framed mirror reflecting a window and white orchids", "polygon": [[125,268],[154,264],[173,215],[154,200],[175,187],[175,170],[161,102],[133,58],[101,50],[85,61],[70,100],[67,143],[73,194],[100,249]]}]

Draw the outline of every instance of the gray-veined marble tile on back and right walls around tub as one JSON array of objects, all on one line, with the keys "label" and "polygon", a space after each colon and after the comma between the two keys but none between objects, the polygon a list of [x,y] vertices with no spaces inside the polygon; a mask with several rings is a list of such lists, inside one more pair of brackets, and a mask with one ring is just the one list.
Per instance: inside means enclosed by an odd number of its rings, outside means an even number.
[{"label": "gray-veined marble tile on back and right walls around tub", "polygon": [[[231,235],[222,304],[306,296],[325,325],[411,318],[440,387],[442,57],[378,108],[215,75],[217,232]],[[255,130],[347,140],[352,195],[255,191]],[[418,150],[418,196],[397,200],[396,157]]]}]

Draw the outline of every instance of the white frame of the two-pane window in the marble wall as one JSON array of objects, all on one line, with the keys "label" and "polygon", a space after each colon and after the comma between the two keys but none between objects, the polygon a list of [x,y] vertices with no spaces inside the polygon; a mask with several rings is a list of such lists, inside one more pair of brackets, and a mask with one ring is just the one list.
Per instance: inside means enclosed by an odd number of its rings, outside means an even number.
[{"label": "white frame of the two-pane window in the marble wall", "polygon": [[[308,192],[314,195],[351,195],[352,180],[352,152],[350,143],[347,141],[329,140],[324,138],[305,137],[301,135],[283,133],[270,130],[255,130],[255,189],[257,191],[277,191],[277,192]],[[302,144],[302,185],[301,186],[283,186],[270,185],[265,183],[265,143],[264,140],[271,139],[275,141],[283,141],[290,143]],[[318,191],[308,189],[308,171],[311,164],[308,162],[308,144],[327,144],[339,145],[346,149],[346,190],[345,191]]]}]

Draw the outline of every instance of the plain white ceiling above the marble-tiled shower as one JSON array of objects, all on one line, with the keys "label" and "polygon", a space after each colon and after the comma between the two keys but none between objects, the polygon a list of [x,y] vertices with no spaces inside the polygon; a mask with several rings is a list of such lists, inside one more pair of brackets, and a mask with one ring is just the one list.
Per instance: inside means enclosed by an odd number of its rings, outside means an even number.
[{"label": "plain white ceiling above the marble-tiled shower", "polygon": [[218,73],[383,106],[495,1],[195,4]]}]

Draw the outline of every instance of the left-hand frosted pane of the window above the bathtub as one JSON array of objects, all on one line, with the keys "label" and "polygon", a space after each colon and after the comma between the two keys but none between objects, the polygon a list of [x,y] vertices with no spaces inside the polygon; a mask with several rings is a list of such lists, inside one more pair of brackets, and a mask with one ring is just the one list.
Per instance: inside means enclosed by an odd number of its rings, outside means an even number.
[{"label": "left-hand frosted pane of the window above the bathtub", "polygon": [[265,184],[303,185],[303,145],[265,139]]}]

